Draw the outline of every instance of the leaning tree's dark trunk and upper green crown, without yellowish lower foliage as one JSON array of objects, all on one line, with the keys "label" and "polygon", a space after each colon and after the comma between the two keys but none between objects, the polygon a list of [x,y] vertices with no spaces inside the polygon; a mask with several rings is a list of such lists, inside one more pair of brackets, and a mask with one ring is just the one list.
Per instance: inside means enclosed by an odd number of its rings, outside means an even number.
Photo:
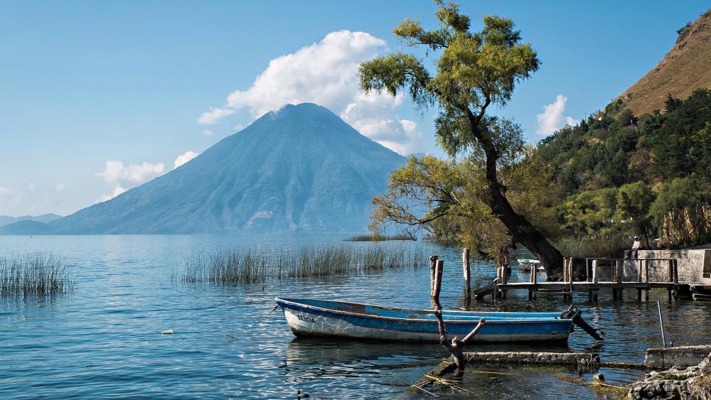
[{"label": "leaning tree's dark trunk and upper green crown, without yellowish lower foliage", "polygon": [[480,157],[486,185],[481,200],[514,242],[538,256],[551,276],[559,275],[562,255],[514,209],[499,180],[498,167],[510,146],[509,122],[487,114],[492,104],[505,105],[515,85],[538,70],[538,55],[521,43],[510,19],[485,16],[481,31],[472,32],[469,16],[457,4],[436,3],[439,28],[426,31],[419,21],[406,18],[393,30],[407,45],[427,50],[434,72],[413,54],[391,53],[360,65],[360,85],[366,93],[407,90],[420,107],[437,107],[439,145],[450,156]]}]

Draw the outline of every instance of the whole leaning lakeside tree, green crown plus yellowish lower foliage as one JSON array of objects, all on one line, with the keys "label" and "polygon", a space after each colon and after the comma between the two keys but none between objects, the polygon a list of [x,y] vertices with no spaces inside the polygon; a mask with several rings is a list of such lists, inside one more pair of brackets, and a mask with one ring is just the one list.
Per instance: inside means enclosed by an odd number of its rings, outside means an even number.
[{"label": "whole leaning lakeside tree, green crown plus yellowish lower foliage", "polygon": [[424,226],[490,256],[528,241],[533,252],[545,250],[544,262],[555,271],[557,250],[541,237],[560,228],[550,223],[557,215],[555,195],[547,193],[557,185],[540,179],[552,170],[525,148],[518,124],[486,114],[491,104],[505,105],[515,85],[538,70],[538,55],[510,19],[485,16],[481,31],[471,31],[457,4],[435,2],[438,28],[426,31],[408,18],[393,30],[406,45],[424,47],[427,63],[404,53],[375,58],[360,65],[360,85],[392,95],[407,90],[420,107],[436,106],[437,142],[461,161],[411,158],[392,173],[390,190],[373,200],[371,227]]}]

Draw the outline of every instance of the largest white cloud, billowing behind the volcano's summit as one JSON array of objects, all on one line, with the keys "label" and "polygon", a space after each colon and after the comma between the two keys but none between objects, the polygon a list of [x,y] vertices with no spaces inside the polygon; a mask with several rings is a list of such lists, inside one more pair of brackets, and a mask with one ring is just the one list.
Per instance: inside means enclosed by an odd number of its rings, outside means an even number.
[{"label": "largest white cloud, billowing behind the volcano's summit", "polygon": [[[385,40],[369,33],[328,33],[319,43],[269,61],[249,88],[228,95],[223,109],[248,109],[257,118],[285,104],[313,102],[331,109],[360,133],[395,151],[422,146],[421,141],[413,141],[419,138],[417,125],[410,125],[412,129],[406,131],[397,117],[402,96],[366,96],[360,90],[358,66],[385,50]],[[215,117],[210,121],[224,117],[215,109],[205,114]]]}]

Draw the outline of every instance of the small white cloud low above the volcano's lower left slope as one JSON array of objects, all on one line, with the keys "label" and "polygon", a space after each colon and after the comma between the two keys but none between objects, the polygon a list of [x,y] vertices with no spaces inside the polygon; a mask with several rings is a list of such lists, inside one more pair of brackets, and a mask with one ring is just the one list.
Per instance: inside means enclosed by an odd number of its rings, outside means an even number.
[{"label": "small white cloud low above the volcano's lower left slope", "polygon": [[163,163],[141,163],[124,166],[122,161],[109,160],[106,162],[104,171],[95,175],[113,185],[114,188],[111,195],[102,195],[96,202],[112,199],[130,188],[163,175],[164,172],[165,166]]}]

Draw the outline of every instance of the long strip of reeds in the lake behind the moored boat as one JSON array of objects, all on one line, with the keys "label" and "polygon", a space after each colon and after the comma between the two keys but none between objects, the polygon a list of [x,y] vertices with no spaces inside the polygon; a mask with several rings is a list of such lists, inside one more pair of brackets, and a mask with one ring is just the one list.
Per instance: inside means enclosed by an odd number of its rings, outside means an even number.
[{"label": "long strip of reeds in the lake behind the moored boat", "polygon": [[191,254],[173,273],[181,283],[264,283],[270,280],[416,269],[427,263],[419,247],[331,245],[299,251],[235,249]]}]

